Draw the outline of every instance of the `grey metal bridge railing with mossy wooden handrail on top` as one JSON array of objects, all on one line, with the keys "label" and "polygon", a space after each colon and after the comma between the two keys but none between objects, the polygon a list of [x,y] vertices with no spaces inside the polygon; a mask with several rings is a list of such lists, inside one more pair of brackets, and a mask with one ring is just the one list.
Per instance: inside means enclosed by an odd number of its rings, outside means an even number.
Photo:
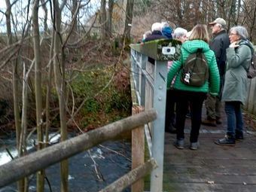
[{"label": "grey metal bridge railing with mossy wooden handrail on top", "polygon": [[131,44],[133,105],[154,108],[157,119],[145,125],[149,154],[157,168],[151,172],[151,192],[163,190],[163,151],[166,111],[167,62],[179,59],[181,42],[157,40]]}]

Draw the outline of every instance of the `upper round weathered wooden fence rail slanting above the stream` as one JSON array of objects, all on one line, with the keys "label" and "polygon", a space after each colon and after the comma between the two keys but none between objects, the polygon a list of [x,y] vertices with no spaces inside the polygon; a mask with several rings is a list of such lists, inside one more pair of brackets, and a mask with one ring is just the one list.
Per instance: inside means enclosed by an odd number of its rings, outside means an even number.
[{"label": "upper round weathered wooden fence rail slanting above the stream", "polygon": [[76,136],[65,142],[60,142],[59,144],[44,148],[41,151],[36,151],[25,157],[15,159],[0,166],[0,187],[4,187],[38,170],[45,169],[54,163],[58,163],[75,154],[81,153],[101,142],[114,139],[121,133],[133,130],[156,118],[157,112],[154,109],[143,111],[142,113],[84,133],[81,136]]}]

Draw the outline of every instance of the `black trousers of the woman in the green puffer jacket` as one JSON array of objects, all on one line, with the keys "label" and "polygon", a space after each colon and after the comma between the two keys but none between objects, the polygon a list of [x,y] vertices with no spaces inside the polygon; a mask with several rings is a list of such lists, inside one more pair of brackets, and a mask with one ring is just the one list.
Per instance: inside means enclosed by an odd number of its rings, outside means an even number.
[{"label": "black trousers of the woman in the green puffer jacket", "polygon": [[175,90],[176,97],[176,128],[177,139],[184,139],[184,125],[186,120],[187,108],[190,105],[191,130],[190,142],[197,142],[201,126],[203,101],[206,93]]}]

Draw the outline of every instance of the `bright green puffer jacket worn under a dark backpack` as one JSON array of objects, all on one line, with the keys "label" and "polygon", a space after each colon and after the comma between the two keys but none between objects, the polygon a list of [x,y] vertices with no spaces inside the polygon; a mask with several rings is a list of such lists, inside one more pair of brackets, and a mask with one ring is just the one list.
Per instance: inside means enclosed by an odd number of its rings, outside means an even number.
[{"label": "bright green puffer jacket worn under a dark backpack", "polygon": [[[183,62],[191,53],[196,53],[198,48],[203,49],[203,53],[206,56],[207,63],[209,65],[209,81],[202,87],[192,87],[181,82],[181,66]],[[203,40],[185,41],[181,47],[181,58],[178,61],[173,62],[167,75],[167,89],[169,89],[172,79],[175,78],[174,89],[187,90],[194,92],[211,93],[213,96],[217,96],[220,87],[220,76],[218,72],[218,66],[215,59],[215,53],[210,50],[209,44]]]}]

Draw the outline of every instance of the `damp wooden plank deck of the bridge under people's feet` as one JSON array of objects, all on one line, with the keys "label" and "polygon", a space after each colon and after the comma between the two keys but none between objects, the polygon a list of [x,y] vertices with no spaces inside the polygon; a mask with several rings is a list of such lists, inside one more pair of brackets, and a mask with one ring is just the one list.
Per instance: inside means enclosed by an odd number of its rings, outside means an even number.
[{"label": "damp wooden plank deck of the bridge under people's feet", "polygon": [[224,137],[226,123],[201,126],[197,151],[189,149],[189,118],[183,150],[172,145],[175,134],[165,133],[163,191],[256,191],[256,127],[245,125],[245,139],[234,147],[215,145]]}]

